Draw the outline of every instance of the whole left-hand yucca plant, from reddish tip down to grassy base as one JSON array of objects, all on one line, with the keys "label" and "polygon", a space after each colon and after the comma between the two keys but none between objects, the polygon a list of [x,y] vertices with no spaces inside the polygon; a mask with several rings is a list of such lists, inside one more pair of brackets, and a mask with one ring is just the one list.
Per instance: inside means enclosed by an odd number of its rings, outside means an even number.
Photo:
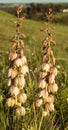
[{"label": "whole left-hand yucca plant, from reddish tip down to grassy base", "polygon": [[25,103],[26,77],[29,73],[27,58],[24,55],[24,39],[26,35],[20,32],[22,20],[22,6],[17,8],[17,19],[11,20],[16,24],[16,35],[11,39],[11,52],[9,54],[8,90],[6,98],[7,126],[6,129],[16,130],[22,128],[21,119],[26,114]]}]

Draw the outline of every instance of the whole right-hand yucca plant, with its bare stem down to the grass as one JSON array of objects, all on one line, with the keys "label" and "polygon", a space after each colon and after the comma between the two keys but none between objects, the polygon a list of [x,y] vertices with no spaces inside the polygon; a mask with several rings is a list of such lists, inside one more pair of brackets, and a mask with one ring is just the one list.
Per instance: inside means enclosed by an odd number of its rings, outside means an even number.
[{"label": "whole right-hand yucca plant, with its bare stem down to the grass", "polygon": [[[55,56],[52,50],[52,45],[56,45],[53,39],[49,23],[52,20],[52,9],[48,9],[46,14],[47,22],[45,22],[46,29],[41,31],[47,33],[47,37],[43,40],[43,56],[42,65],[39,75],[37,98],[35,101],[35,116],[38,111],[38,118],[36,118],[36,130],[41,130],[43,119],[54,110],[54,94],[58,90],[58,85],[55,82],[57,76],[57,68],[55,66]],[[55,27],[53,27],[54,29]],[[37,108],[38,107],[38,108]]]}]

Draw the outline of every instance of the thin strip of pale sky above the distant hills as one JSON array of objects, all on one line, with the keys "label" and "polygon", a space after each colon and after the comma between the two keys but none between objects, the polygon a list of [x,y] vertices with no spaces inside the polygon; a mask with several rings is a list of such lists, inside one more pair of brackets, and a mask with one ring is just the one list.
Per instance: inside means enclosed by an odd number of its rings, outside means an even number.
[{"label": "thin strip of pale sky above the distant hills", "polygon": [[68,0],[0,0],[0,3],[30,3],[30,2],[38,2],[38,3],[49,3],[49,2],[68,2]]}]

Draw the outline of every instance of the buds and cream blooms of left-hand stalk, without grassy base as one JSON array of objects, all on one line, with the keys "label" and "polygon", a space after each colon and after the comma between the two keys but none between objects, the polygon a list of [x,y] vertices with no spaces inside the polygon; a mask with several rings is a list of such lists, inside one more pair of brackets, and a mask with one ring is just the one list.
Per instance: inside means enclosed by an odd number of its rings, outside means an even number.
[{"label": "buds and cream blooms of left-hand stalk, without grassy base", "polygon": [[12,22],[17,24],[16,36],[12,38],[12,51],[9,54],[10,68],[8,70],[8,87],[9,97],[7,99],[8,107],[14,107],[17,115],[25,115],[25,107],[22,106],[27,100],[25,93],[25,76],[29,73],[27,59],[24,55],[24,42],[22,37],[25,38],[25,34],[20,34],[19,27],[21,18],[19,13],[22,11],[21,7],[17,9],[18,20]]}]

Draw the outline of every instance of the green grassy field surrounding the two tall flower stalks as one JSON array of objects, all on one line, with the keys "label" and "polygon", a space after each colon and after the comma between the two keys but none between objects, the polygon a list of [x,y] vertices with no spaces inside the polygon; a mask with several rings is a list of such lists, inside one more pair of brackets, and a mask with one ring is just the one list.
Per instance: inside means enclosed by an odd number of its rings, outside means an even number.
[{"label": "green grassy field surrounding the two tall flower stalks", "polygon": [[[6,127],[6,124],[8,123],[8,114],[6,115],[6,110],[4,108],[4,104],[2,103],[3,99],[5,98],[6,93],[6,87],[7,87],[7,69],[8,69],[8,53],[11,51],[11,42],[10,39],[14,36],[16,33],[15,31],[15,25],[10,22],[11,19],[15,19],[13,15],[10,15],[6,12],[0,11],[0,128],[2,130],[15,130],[15,129],[8,129]],[[54,37],[54,40],[56,41],[56,46],[53,47],[54,55],[56,57],[56,65],[60,66],[60,73],[58,75],[58,78],[56,79],[59,85],[59,91],[58,95],[56,96],[56,119],[58,119],[58,124],[60,129],[58,127],[53,127],[54,121],[52,120],[53,115],[49,119],[47,117],[46,123],[44,123],[44,128],[42,127],[41,130],[68,130],[68,80],[67,80],[67,74],[68,74],[68,26],[64,24],[50,24],[50,27],[55,26],[56,30],[52,30],[52,34]],[[31,108],[30,104],[33,101],[33,97],[35,94],[35,86],[37,86],[37,79],[36,75],[38,75],[38,72],[40,70],[41,65],[41,55],[42,55],[42,41],[46,37],[46,34],[43,34],[40,30],[45,28],[42,21],[33,21],[25,19],[21,26],[21,32],[24,32],[27,36],[25,40],[25,55],[28,58],[28,65],[31,71],[31,87],[30,85],[28,88],[28,97],[29,101],[26,106],[29,105],[28,109]],[[29,94],[31,92],[31,94]],[[30,96],[32,96],[32,99],[30,99]],[[60,107],[59,107],[60,106]],[[32,112],[32,110],[30,111]],[[29,113],[30,113],[29,112]],[[28,113],[28,115],[29,115]],[[21,121],[21,123],[26,122],[24,125],[25,130],[35,130],[34,126],[29,128],[29,124],[33,123],[32,116],[30,117],[27,115],[25,121]],[[6,119],[7,117],[7,119]],[[29,119],[28,119],[29,118]],[[34,119],[34,118],[33,118]],[[54,118],[53,118],[54,119]],[[6,122],[5,122],[6,120]],[[27,120],[29,122],[27,123]],[[31,121],[32,120],[32,121]],[[62,122],[62,123],[61,123]],[[16,122],[20,125],[20,122]],[[47,127],[47,123],[50,123]],[[17,130],[21,130],[21,128],[17,125]],[[28,126],[28,127],[27,127]],[[21,126],[23,127],[23,125]],[[24,129],[22,129],[24,130]]]}]

